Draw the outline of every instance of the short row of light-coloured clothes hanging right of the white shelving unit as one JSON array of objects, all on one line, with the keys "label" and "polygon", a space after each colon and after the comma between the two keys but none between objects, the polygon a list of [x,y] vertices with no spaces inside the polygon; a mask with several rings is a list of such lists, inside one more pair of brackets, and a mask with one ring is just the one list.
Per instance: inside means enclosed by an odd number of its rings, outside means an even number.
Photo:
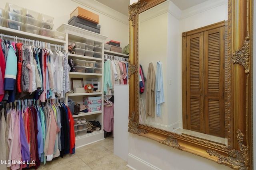
[{"label": "short row of light-coloured clothes hanging right of the white shelving unit", "polygon": [[129,84],[128,59],[104,54],[104,94],[107,98],[114,95],[114,84]]}]

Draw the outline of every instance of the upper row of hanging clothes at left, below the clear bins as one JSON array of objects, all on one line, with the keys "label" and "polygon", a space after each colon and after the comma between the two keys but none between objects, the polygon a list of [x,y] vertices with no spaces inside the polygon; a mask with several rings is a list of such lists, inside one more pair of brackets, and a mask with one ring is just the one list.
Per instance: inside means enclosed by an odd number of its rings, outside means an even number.
[{"label": "upper row of hanging clothes at left, below the clear bins", "polygon": [[71,69],[64,46],[4,34],[0,37],[0,102],[24,96],[41,102],[64,98],[70,91]]}]

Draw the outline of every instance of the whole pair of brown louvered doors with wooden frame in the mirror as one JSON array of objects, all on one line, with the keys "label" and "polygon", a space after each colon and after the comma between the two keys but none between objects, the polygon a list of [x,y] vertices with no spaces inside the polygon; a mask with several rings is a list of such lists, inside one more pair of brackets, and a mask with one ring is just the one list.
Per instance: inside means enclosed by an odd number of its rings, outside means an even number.
[{"label": "whole pair of brown louvered doors with wooden frame in the mirror", "polygon": [[226,137],[225,21],[182,33],[183,129]]}]

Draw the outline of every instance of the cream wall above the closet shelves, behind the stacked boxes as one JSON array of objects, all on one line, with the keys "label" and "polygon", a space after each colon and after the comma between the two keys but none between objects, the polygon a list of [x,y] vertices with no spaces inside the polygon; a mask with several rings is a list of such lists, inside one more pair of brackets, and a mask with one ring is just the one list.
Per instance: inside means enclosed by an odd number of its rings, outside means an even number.
[{"label": "cream wall above the closet shelves, behind the stacked boxes", "polygon": [[[86,0],[85,3],[87,6],[72,0],[1,0],[0,8],[4,9],[7,2],[49,16],[53,16],[54,30],[56,30],[56,28],[58,28],[62,23],[68,23],[68,20],[70,19],[70,13],[76,9],[76,7],[80,6],[81,8],[94,12],[100,16],[100,34],[108,37],[106,42],[110,40],[119,41],[121,47],[125,47],[129,43],[128,16],[116,12],[95,0]],[[94,8],[96,7],[98,9],[92,9],[91,6],[94,6]],[[112,12],[117,15],[112,17],[111,15],[105,14],[102,11],[107,11],[110,13]],[[118,18],[122,18],[122,21],[118,20]]]}]

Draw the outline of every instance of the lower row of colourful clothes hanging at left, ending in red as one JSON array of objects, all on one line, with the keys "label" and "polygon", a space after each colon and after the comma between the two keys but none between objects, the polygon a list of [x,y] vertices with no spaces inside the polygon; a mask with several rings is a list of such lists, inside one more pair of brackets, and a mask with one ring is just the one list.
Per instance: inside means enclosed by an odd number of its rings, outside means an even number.
[{"label": "lower row of colourful clothes hanging at left, ending in red", "polygon": [[1,169],[37,169],[41,162],[75,152],[74,119],[63,100],[7,103],[0,111],[0,122],[0,139],[7,139],[0,146],[6,153],[0,158],[7,162]]}]

